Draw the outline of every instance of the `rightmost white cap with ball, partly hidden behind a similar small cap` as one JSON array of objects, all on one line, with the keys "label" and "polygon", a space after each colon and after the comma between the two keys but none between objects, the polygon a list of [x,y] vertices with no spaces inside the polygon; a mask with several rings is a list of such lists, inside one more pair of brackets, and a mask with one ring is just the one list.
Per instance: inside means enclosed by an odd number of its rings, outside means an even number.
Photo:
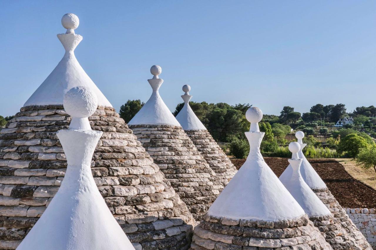
[{"label": "rightmost white cap with ball, partly hidden behind a similar small cap", "polygon": [[[327,188],[324,181],[320,178],[320,176],[317,174],[317,172],[314,170],[312,165],[308,162],[307,158],[303,154],[302,150],[306,146],[306,144],[302,141],[304,133],[302,131],[297,131],[295,133],[295,137],[298,139],[298,143],[300,144],[300,151],[298,152],[298,155],[299,158],[302,159],[300,173],[302,174],[303,180],[310,188]],[[279,176],[280,181],[282,181],[283,183],[287,182],[292,173],[293,168],[291,167],[291,164],[289,164],[285,171],[282,173],[282,175]]]}]

